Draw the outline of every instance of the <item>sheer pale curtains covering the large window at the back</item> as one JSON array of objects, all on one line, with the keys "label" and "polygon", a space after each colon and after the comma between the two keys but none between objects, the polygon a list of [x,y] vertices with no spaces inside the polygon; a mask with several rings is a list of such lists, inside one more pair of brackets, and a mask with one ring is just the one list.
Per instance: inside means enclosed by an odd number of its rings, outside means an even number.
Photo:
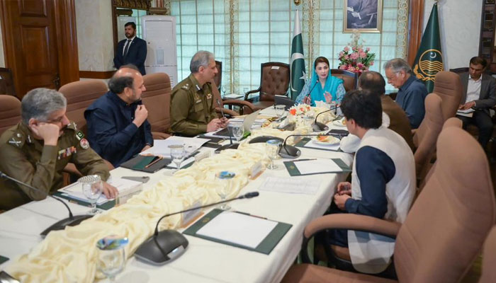
[{"label": "sheer pale curtains covering the large window at the back", "polygon": [[[295,8],[303,15],[307,73],[318,56],[337,68],[337,55],[351,35],[342,32],[342,0],[306,0],[298,7],[291,0],[172,0],[179,80],[190,74],[193,54],[208,50],[222,61],[222,85],[228,92],[257,88],[261,63],[290,61]],[[407,0],[383,0],[382,32],[362,34],[376,53],[372,70],[383,73],[388,59],[405,57],[406,25]]]}]

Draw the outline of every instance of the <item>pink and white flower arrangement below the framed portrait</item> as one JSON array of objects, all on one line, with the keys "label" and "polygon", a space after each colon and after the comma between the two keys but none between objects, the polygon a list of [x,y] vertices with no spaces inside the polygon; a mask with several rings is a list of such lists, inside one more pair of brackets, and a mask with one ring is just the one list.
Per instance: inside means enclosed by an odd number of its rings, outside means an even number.
[{"label": "pink and white flower arrangement below the framed portrait", "polygon": [[351,42],[344,47],[342,52],[339,52],[339,69],[361,74],[373,66],[376,53],[370,52],[369,47],[363,48],[363,42],[365,40],[360,40],[360,32],[353,30]]}]

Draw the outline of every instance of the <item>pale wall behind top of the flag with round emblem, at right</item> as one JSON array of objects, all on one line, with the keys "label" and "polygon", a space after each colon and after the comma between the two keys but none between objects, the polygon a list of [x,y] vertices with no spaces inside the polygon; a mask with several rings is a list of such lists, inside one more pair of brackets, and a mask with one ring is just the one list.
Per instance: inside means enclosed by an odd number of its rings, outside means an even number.
[{"label": "pale wall behind top of the flag with round emblem, at right", "polygon": [[[434,0],[424,2],[424,29]],[[482,0],[439,0],[439,33],[444,69],[468,67],[470,58],[479,54]]]}]

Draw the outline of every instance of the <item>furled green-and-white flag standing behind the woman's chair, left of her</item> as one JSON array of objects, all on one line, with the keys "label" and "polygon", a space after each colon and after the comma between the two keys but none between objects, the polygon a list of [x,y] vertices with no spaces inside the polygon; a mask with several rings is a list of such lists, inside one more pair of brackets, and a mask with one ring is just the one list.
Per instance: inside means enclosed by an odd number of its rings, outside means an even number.
[{"label": "furled green-and-white flag standing behind the woman's chair, left of her", "polygon": [[295,100],[305,85],[305,59],[303,59],[303,39],[301,37],[300,13],[296,10],[293,44],[291,45],[291,99]]}]

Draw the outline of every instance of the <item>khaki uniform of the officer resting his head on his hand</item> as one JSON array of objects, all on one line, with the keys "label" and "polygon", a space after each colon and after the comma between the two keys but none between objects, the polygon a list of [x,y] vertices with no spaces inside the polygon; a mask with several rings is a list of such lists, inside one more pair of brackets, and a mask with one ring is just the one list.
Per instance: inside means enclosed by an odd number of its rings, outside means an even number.
[{"label": "khaki uniform of the officer resting his head on his hand", "polygon": [[[71,122],[63,129],[57,146],[44,146],[34,139],[23,122],[6,130],[0,137],[0,171],[28,183],[43,192],[53,193],[62,187],[62,170],[72,162],[83,175],[100,175],[107,180],[108,166],[89,148],[84,134]],[[0,209],[11,209],[31,200],[43,200],[45,194],[0,179]]]}]

